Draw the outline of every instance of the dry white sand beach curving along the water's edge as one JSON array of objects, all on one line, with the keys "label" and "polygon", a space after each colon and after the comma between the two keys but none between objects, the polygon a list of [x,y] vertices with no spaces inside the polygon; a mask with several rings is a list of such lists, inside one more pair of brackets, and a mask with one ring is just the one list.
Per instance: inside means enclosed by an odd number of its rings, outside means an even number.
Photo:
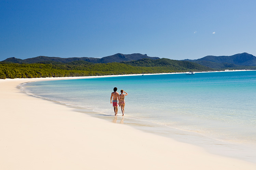
[{"label": "dry white sand beach curving along the water's edge", "polygon": [[61,79],[71,78],[0,80],[0,169],[256,169],[256,164],[75,112],[17,88]]}]

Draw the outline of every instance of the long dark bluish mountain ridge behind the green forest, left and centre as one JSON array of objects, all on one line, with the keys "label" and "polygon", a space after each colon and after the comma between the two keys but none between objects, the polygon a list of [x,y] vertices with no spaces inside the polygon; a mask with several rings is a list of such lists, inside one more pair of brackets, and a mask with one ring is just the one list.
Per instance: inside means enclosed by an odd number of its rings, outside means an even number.
[{"label": "long dark bluish mountain ridge behind the green forest, left and centre", "polygon": [[153,60],[158,59],[159,57],[150,57],[147,54],[114,54],[102,58],[93,58],[93,57],[71,57],[71,58],[60,58],[60,57],[47,57],[47,56],[38,56],[33,58],[27,58],[25,60],[11,57],[7,58],[3,62],[11,62],[11,63],[38,63],[44,61],[54,61],[54,62],[61,62],[61,63],[69,63],[73,61],[87,61],[91,63],[112,63],[112,62],[122,62],[122,61],[131,61],[131,60],[139,60],[142,58],[151,58]]}]

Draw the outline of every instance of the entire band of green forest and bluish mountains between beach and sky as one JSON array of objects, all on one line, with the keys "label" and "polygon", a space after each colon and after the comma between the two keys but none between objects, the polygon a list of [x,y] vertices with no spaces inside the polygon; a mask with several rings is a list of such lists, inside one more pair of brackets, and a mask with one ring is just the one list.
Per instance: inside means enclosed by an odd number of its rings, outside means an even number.
[{"label": "entire band of green forest and bluish mountains between beach and sky", "polygon": [[[144,58],[140,59],[142,57]],[[120,63],[111,63],[112,61]],[[120,53],[103,58],[38,56],[22,60],[12,57],[0,62],[0,79],[222,71],[226,69],[256,70],[256,57],[248,53],[233,56],[206,56],[198,60],[184,61],[148,57],[146,54]]]}]

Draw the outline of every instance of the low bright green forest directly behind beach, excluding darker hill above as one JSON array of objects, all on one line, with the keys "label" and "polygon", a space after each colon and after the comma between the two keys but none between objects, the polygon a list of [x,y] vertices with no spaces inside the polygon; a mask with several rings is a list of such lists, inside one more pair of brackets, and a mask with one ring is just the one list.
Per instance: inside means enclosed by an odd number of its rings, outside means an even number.
[{"label": "low bright green forest directly behind beach, excluding darker hill above", "polygon": [[93,64],[84,61],[71,63],[18,64],[0,62],[0,79],[79,77],[93,75],[118,75],[142,73],[183,72],[173,67],[142,67],[124,63]]}]

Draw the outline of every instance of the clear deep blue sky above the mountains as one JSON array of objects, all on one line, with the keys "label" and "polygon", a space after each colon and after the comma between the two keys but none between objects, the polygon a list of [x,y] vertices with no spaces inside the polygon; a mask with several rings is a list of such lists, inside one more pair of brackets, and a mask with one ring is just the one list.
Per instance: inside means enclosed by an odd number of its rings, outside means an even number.
[{"label": "clear deep blue sky above the mountains", "polygon": [[1,0],[0,61],[256,55],[255,0]]}]

